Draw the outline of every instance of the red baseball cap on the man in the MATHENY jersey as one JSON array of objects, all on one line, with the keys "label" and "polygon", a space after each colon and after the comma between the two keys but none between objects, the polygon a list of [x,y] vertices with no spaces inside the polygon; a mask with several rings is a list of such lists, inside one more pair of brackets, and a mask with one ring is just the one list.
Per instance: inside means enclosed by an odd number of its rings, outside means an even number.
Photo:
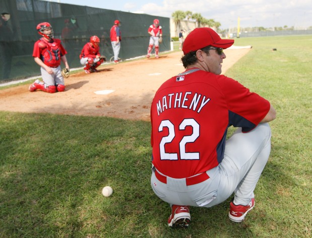
[{"label": "red baseball cap on the man in the MATHENY jersey", "polygon": [[202,49],[208,45],[213,47],[226,49],[234,43],[234,40],[223,40],[213,29],[208,27],[201,27],[194,29],[185,38],[183,43],[183,53],[187,54],[191,51]]}]

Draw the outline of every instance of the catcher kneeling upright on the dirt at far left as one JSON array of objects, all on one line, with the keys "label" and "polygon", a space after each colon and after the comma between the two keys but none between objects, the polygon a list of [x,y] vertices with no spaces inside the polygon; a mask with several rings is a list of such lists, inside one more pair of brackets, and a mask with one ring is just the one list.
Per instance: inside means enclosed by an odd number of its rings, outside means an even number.
[{"label": "catcher kneeling upright on the dirt at far left", "polygon": [[65,64],[69,70],[65,54],[67,53],[59,39],[54,39],[53,29],[48,22],[39,23],[37,31],[41,37],[35,42],[33,57],[41,67],[43,82],[36,80],[29,86],[29,91],[41,90],[47,93],[63,92],[65,90],[64,78],[60,63]]}]

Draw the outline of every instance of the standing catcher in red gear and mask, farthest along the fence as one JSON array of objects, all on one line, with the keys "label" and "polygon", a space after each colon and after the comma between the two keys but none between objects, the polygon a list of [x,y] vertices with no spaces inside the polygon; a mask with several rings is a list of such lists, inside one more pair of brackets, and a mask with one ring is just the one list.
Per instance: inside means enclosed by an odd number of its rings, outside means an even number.
[{"label": "standing catcher in red gear and mask, farthest along the fence", "polygon": [[155,58],[159,58],[159,42],[162,41],[162,36],[163,36],[163,29],[159,25],[159,20],[155,19],[153,21],[153,25],[150,25],[148,30],[148,34],[150,35],[149,37],[149,45],[147,48],[147,55],[146,58],[150,57],[150,53],[153,49],[153,46],[155,46]]}]

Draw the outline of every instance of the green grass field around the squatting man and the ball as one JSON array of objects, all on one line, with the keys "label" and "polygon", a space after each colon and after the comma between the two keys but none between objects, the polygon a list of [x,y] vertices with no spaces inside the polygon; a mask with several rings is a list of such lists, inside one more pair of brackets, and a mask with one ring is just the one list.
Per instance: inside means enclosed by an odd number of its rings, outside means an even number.
[{"label": "green grass field around the squatting man and the ball", "polygon": [[148,122],[0,112],[0,237],[311,237],[312,36],[235,45],[253,49],[226,75],[277,111],[256,206],[243,223],[228,219],[230,197],[192,208],[187,229],[168,227],[171,209],[149,183]]}]

